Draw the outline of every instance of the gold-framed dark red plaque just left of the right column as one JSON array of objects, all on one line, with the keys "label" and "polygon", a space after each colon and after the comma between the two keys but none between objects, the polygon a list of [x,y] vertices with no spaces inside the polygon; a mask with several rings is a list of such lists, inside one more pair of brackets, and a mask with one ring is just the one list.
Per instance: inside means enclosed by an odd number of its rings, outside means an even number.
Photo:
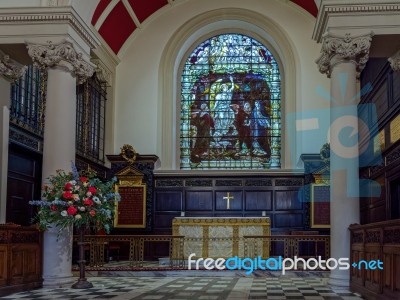
[{"label": "gold-framed dark red plaque just left of the right column", "polygon": [[311,228],[330,227],[330,186],[311,185]]}]

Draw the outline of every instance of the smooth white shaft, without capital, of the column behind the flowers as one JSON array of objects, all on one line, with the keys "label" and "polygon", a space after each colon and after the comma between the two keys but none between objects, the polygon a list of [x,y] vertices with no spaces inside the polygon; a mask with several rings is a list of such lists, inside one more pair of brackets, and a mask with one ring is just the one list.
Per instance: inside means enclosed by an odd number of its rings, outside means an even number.
[{"label": "smooth white shaft, without capital, of the column behind the flowers", "polygon": [[[43,182],[57,169],[71,170],[75,162],[76,79],[61,68],[48,69],[43,144]],[[57,229],[44,233],[43,285],[62,286],[72,279],[72,232]]]}]

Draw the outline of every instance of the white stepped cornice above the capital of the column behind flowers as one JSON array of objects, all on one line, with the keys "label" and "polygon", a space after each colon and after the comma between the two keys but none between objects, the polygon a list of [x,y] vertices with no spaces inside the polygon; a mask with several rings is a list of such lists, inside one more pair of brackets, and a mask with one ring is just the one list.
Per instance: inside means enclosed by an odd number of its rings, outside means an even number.
[{"label": "white stepped cornice above the capital of the column behind flowers", "polygon": [[[96,35],[90,30],[88,25],[86,25],[86,23],[70,5],[61,6],[60,4],[51,7],[2,8],[0,12],[0,25],[52,26],[52,24],[67,24],[68,26],[71,26],[90,49],[94,49],[100,44],[100,41]],[[25,39],[29,37],[30,32],[27,31],[25,34]],[[33,38],[35,38],[35,36],[33,36]]]}]

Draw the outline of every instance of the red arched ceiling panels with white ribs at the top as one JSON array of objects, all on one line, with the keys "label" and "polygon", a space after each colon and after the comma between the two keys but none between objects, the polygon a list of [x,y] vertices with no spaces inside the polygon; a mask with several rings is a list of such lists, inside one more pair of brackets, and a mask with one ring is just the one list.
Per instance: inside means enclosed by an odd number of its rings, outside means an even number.
[{"label": "red arched ceiling panels with white ribs at the top", "polygon": [[[100,0],[92,24],[115,54],[129,36],[152,14],[173,0]],[[290,0],[314,17],[318,13],[314,0]]]}]

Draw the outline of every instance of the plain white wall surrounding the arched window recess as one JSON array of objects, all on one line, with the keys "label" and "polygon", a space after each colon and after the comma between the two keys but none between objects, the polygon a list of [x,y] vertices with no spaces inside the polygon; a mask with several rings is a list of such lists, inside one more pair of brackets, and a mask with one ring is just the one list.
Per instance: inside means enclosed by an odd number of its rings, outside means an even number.
[{"label": "plain white wall surrounding the arched window recess", "polygon": [[[189,0],[157,12],[141,29],[136,30],[120,51],[121,63],[117,67],[116,78],[115,153],[123,144],[131,144],[141,154],[158,155],[162,164],[163,161],[170,160],[162,157],[166,139],[158,139],[162,132],[163,114],[157,112],[161,111],[166,93],[160,79],[162,76],[159,67],[165,61],[165,57],[162,57],[164,49],[175,32],[186,22],[216,9],[222,9],[223,15],[224,8],[262,14],[284,32],[285,38],[292,45],[295,66],[291,68],[296,70],[297,82],[293,99],[283,101],[294,102],[291,107],[295,107],[297,111],[329,107],[329,101],[323,100],[316,92],[320,85],[329,93],[329,81],[318,72],[315,64],[320,45],[311,39],[315,19],[308,13],[286,1]],[[323,142],[299,140],[296,152],[319,152]],[[296,167],[297,162],[289,161],[288,157],[285,159],[288,162],[284,165],[285,168]],[[163,168],[173,169],[174,166],[164,164]]]}]

